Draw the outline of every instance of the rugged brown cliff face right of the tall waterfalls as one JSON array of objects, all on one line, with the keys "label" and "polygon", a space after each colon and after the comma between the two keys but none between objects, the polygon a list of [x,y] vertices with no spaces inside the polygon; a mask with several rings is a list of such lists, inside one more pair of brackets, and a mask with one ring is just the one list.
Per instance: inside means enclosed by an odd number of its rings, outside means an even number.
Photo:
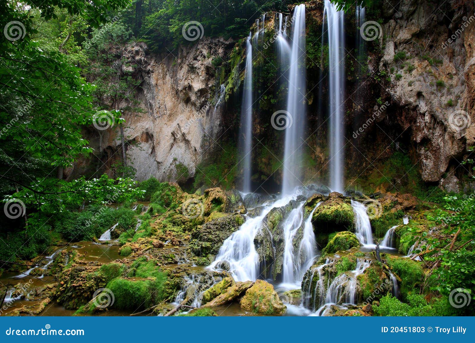
[{"label": "rugged brown cliff face right of the tall waterfalls", "polygon": [[398,75],[388,89],[397,120],[410,132],[422,179],[450,191],[458,191],[455,170],[475,139],[475,17],[463,2],[383,5],[380,69]]}]

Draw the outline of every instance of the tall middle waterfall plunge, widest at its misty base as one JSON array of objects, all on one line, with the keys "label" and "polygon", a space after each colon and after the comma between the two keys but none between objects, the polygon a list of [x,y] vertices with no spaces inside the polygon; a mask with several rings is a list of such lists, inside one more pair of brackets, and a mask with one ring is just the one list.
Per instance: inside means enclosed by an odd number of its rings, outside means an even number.
[{"label": "tall middle waterfall plunge, widest at its misty base", "polygon": [[285,129],[284,174],[282,193],[291,194],[302,184],[302,150],[306,127],[305,94],[305,5],[295,6],[292,18],[292,48],[290,52],[287,94],[288,125]]}]

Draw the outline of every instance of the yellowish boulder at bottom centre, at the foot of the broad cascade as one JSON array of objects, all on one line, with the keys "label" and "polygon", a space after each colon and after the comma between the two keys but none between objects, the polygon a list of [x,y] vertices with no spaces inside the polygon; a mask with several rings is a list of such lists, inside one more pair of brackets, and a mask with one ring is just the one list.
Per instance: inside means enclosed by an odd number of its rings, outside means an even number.
[{"label": "yellowish boulder at bottom centre, at the foot of the broad cascade", "polygon": [[247,311],[265,315],[282,314],[287,309],[274,287],[264,280],[256,280],[254,285],[247,289],[240,305]]}]

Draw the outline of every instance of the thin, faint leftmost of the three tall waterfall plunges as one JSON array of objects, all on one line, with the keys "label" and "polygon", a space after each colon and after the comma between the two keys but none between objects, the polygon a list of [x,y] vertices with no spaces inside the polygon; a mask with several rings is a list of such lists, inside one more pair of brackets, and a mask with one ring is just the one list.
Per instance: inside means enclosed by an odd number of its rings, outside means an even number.
[{"label": "thin, faint leftmost of the three tall waterfall plunges", "polygon": [[[259,22],[257,21],[257,25]],[[243,157],[243,192],[251,192],[251,150],[252,150],[252,44],[251,33],[246,43],[246,71],[244,76],[244,94],[241,106],[241,139]]]}]

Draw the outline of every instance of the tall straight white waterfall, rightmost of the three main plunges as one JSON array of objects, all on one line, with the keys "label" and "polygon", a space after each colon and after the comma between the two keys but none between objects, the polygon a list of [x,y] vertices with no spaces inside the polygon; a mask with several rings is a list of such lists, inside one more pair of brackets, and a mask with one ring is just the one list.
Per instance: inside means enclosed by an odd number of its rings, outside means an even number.
[{"label": "tall straight white waterfall, rightmost of the three main plunges", "polygon": [[325,0],[323,16],[328,25],[328,52],[330,76],[330,188],[343,192],[343,139],[344,139],[344,11],[337,11],[330,0]]}]

